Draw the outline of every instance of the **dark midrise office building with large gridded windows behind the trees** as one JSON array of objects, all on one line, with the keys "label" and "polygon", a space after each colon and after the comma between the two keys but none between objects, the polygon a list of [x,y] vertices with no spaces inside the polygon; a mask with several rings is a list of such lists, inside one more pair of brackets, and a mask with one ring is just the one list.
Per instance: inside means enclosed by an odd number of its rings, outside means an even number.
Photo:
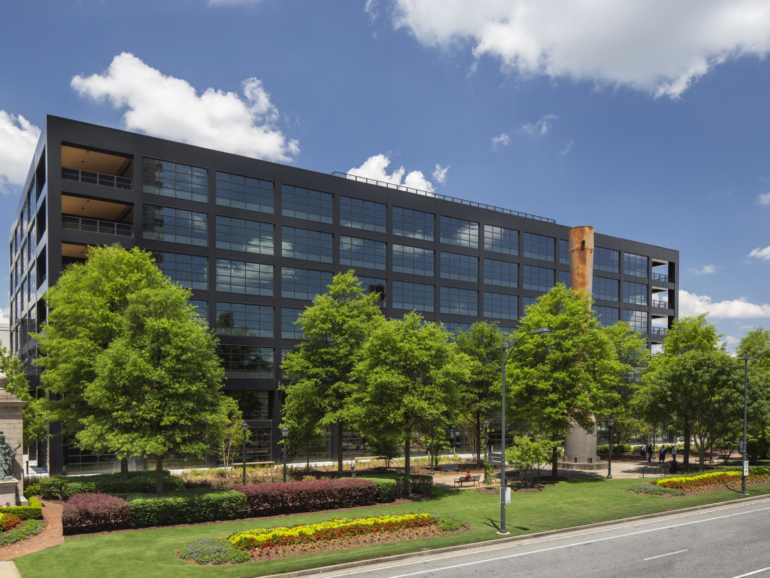
[{"label": "dark midrise office building with large gridded windows behind the trees", "polygon": [[[416,309],[453,331],[478,319],[513,329],[537,296],[569,284],[568,230],[514,210],[48,116],[9,232],[12,351],[37,388],[28,334],[45,321],[48,287],[89,245],[150,250],[216,328],[224,389],[253,428],[249,460],[278,461],[280,361],[302,338],[297,314],[333,274],[354,269],[391,318]],[[677,316],[678,251],[602,234],[595,245],[601,322],[625,320],[661,341]],[[49,427],[52,438],[27,449],[40,467],[118,467],[114,455],[82,452]],[[366,452],[345,432],[296,458],[329,459],[338,444]]]}]

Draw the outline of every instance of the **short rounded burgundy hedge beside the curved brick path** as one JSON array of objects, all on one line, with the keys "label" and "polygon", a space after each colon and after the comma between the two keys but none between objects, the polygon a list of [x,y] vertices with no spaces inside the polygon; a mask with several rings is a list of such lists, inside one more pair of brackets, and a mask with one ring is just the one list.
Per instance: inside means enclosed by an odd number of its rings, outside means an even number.
[{"label": "short rounded burgundy hedge beside the curved brick path", "polygon": [[107,494],[75,494],[62,508],[65,534],[109,532],[131,527],[129,502]]}]

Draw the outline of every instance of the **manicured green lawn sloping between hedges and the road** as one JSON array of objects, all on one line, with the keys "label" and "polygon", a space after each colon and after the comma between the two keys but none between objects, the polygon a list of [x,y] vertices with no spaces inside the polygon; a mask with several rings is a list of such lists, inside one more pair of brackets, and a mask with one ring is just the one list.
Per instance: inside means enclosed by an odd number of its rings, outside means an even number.
[{"label": "manicured green lawn sloping between hedges and the road", "polygon": [[[559,482],[543,492],[514,492],[513,503],[507,506],[508,529],[513,534],[526,534],[742,497],[735,490],[677,498],[642,496],[626,490],[634,482],[637,480],[574,480]],[[752,496],[770,493],[770,484],[750,487],[748,491]],[[227,536],[260,526],[315,523],[333,517],[329,513],[306,514],[280,520],[265,520],[259,524],[233,522],[65,539],[61,546],[22,556],[17,558],[15,563],[23,578],[246,578],[498,537],[495,534],[500,520],[500,502],[497,496],[488,496],[472,490],[439,490],[438,493],[437,499],[412,507],[382,506],[344,512],[341,515],[352,517],[409,511],[448,512],[470,523],[469,531],[437,538],[295,556],[284,560],[260,560],[234,566],[196,566],[177,560],[174,556],[174,550],[191,539]]]}]

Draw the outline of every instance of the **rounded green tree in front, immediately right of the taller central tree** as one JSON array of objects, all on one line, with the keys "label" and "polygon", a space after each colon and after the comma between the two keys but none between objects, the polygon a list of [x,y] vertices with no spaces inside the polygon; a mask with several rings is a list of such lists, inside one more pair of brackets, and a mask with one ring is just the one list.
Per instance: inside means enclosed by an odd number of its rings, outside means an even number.
[{"label": "rounded green tree in front, immediately right of the taller central tree", "polygon": [[362,354],[350,421],[364,435],[399,439],[408,476],[416,432],[433,430],[454,414],[458,388],[469,376],[468,357],[449,342],[443,325],[423,323],[416,311],[379,324]]}]

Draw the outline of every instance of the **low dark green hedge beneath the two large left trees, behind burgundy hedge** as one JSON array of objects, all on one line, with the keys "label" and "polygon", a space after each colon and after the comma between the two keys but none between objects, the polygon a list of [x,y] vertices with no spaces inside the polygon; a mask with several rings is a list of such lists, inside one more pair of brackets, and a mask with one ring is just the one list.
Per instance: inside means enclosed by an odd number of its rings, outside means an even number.
[{"label": "low dark green hedge beneath the two large left trees, behind burgundy hedge", "polygon": [[[182,478],[163,472],[163,491],[184,489]],[[155,493],[155,472],[129,472],[128,478],[119,473],[96,476],[50,476],[29,486],[25,494],[45,499],[68,499],[75,494]]]}]

